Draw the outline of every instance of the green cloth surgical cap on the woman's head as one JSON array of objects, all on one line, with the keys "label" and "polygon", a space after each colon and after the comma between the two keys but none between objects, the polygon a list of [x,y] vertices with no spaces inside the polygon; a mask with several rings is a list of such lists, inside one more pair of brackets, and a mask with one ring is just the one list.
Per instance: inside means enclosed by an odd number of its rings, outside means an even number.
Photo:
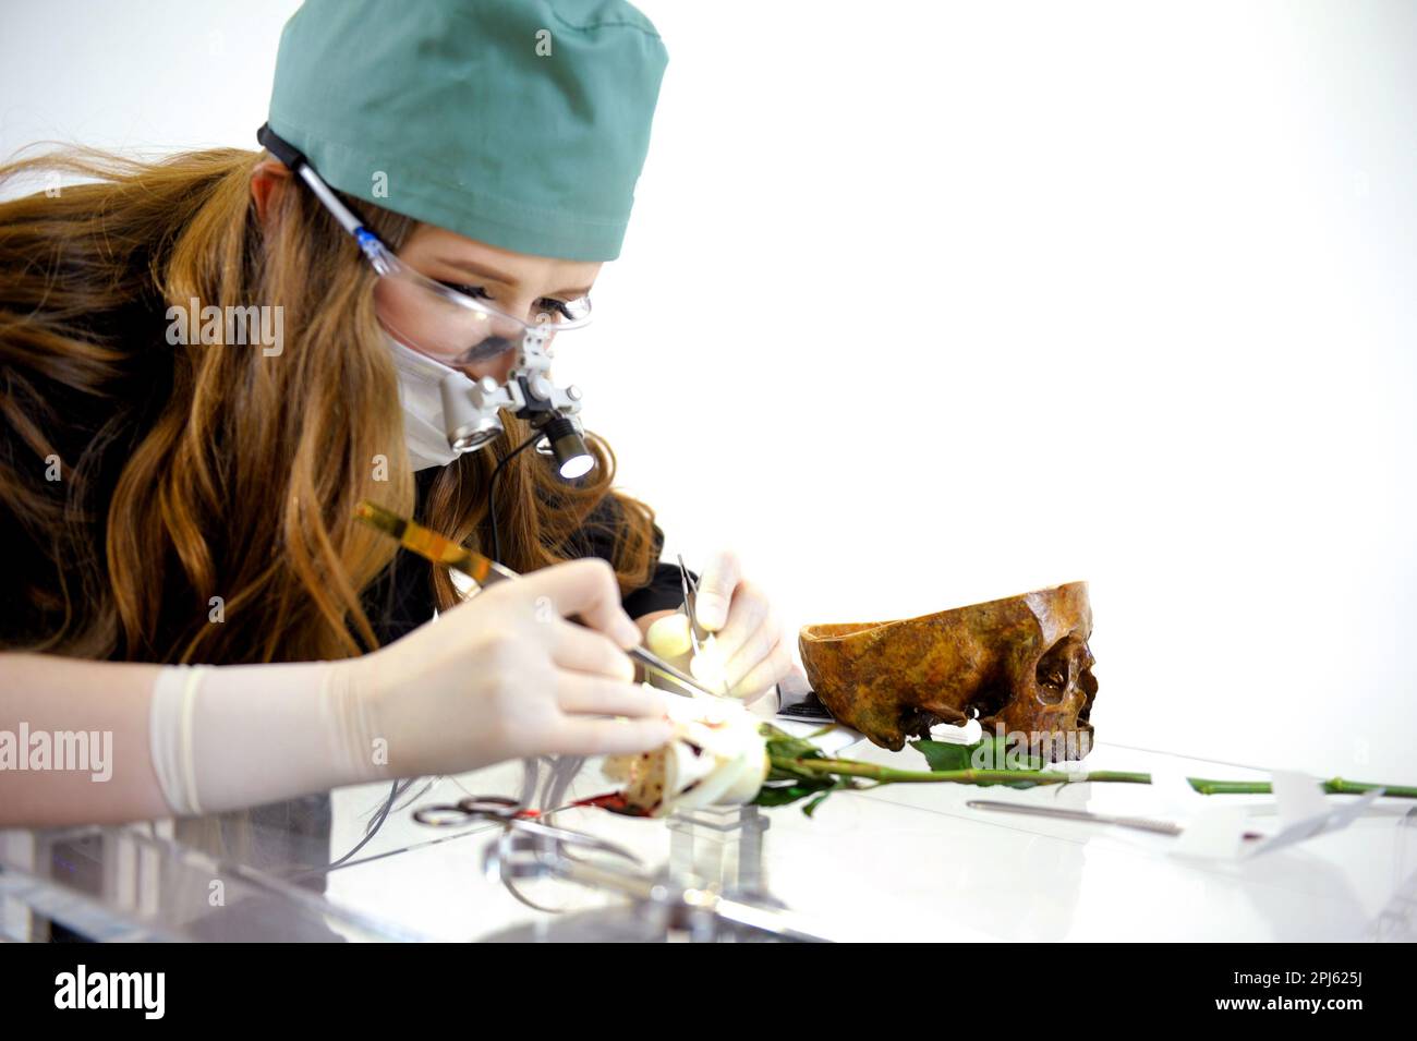
[{"label": "green cloth surgical cap on the woman's head", "polygon": [[621,0],[306,0],[281,35],[269,123],[376,205],[611,261],[667,61]]}]

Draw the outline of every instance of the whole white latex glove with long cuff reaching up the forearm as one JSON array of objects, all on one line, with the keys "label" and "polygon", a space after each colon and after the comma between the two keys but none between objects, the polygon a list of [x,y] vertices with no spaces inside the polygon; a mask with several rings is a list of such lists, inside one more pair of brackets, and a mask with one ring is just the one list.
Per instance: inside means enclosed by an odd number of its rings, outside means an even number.
[{"label": "whole white latex glove with long cuff reaching up the forearm", "polygon": [[614,571],[587,558],[487,586],[363,657],[164,669],[154,772],[181,814],[531,755],[645,752],[672,728],[669,695],[633,683],[623,649],[636,643]]}]

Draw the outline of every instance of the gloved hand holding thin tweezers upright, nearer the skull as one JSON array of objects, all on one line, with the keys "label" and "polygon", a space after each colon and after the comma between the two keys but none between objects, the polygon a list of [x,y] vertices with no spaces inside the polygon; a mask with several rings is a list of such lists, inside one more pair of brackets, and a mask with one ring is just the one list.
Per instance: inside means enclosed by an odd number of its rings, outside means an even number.
[{"label": "gloved hand holding thin tweezers upright, nearer the skull", "polygon": [[711,633],[703,653],[693,653],[683,615],[657,619],[645,644],[708,690],[757,701],[792,669],[792,652],[772,605],[762,589],[743,578],[734,552],[710,558],[699,576],[694,609],[699,625]]}]

